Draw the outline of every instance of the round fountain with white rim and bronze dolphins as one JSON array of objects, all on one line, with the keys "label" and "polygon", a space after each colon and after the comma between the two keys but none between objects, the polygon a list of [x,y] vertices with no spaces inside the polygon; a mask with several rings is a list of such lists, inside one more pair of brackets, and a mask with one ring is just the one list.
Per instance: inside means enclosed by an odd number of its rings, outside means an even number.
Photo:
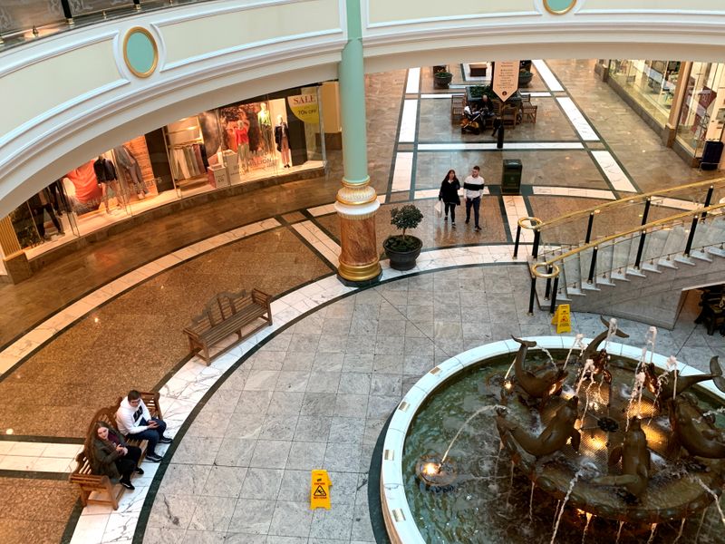
[{"label": "round fountain with white rim and bronze dolphins", "polygon": [[654,335],[614,334],[498,342],[423,376],[383,447],[391,540],[722,541],[717,359],[683,370]]}]

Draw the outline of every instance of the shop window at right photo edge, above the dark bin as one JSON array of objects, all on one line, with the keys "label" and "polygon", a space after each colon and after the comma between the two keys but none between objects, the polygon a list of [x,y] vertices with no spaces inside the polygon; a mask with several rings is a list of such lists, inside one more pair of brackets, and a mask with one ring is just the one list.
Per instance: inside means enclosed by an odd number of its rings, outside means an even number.
[{"label": "shop window at right photo edge, above the dark bin", "polygon": [[[715,117],[718,89],[725,64],[692,63],[682,102],[677,141],[700,157],[704,142],[720,139],[722,123]],[[716,126],[719,125],[719,126]]]}]

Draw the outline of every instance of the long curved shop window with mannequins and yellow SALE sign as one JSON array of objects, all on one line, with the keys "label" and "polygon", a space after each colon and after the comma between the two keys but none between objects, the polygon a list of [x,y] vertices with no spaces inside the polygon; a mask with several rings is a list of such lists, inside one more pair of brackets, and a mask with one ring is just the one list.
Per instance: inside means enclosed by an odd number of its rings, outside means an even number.
[{"label": "long curved shop window with mannequins and yellow SALE sign", "polygon": [[200,112],[87,160],[14,210],[21,247],[33,258],[172,200],[324,168],[318,89]]}]

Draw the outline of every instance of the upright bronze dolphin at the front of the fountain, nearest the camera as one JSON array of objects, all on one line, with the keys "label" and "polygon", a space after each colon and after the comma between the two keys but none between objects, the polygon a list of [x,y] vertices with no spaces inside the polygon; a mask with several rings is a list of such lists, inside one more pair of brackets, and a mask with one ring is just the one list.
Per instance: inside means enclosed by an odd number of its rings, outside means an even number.
[{"label": "upright bronze dolphin at the front of the fountain, nearest the camera", "polygon": [[622,460],[622,474],[619,476],[601,476],[592,483],[599,485],[621,485],[639,498],[650,480],[650,452],[647,449],[647,437],[642,430],[640,419],[630,420],[624,441],[609,454],[609,466],[613,467]]}]

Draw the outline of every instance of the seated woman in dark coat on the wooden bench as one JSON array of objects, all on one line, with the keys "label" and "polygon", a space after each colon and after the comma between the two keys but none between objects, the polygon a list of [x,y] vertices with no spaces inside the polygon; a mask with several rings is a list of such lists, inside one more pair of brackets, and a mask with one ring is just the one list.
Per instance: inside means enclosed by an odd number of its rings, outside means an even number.
[{"label": "seated woman in dark coat on the wooden bench", "polygon": [[138,466],[140,448],[128,445],[121,432],[102,422],[96,423],[96,434],[91,442],[86,447],[93,473],[105,474],[111,481],[120,481],[128,490],[135,489],[131,484],[131,474],[143,474]]}]

